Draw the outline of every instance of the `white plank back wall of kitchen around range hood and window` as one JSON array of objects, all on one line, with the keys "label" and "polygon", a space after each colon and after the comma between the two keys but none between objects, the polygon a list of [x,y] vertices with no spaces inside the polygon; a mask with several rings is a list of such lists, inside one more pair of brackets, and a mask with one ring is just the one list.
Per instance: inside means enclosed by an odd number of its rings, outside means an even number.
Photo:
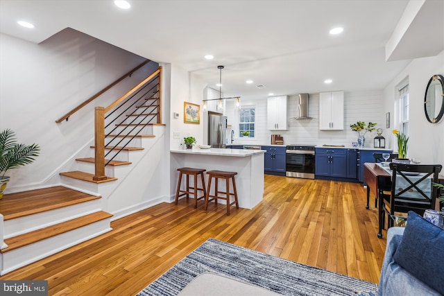
[{"label": "white plank back wall of kitchen around range hood and window", "polygon": [[[294,119],[298,116],[298,96],[290,95],[287,103],[288,130],[271,131],[266,129],[266,98],[241,101],[242,106],[254,105],[256,108],[255,138],[235,137],[234,144],[267,145],[271,143],[271,134],[281,134],[284,144],[307,145],[345,145],[351,146],[357,141],[357,132],[350,129],[350,124],[357,121],[376,122],[377,128],[384,130],[384,137],[389,137],[390,131],[385,129],[385,112],[382,101],[382,90],[366,92],[344,92],[344,129],[326,131],[319,130],[319,94],[309,95],[309,116],[313,119]],[[232,124],[235,132],[237,128],[237,112],[234,103],[227,102],[225,114],[228,115],[228,123]],[[373,138],[376,132],[366,134],[365,147],[373,147]]]}]

